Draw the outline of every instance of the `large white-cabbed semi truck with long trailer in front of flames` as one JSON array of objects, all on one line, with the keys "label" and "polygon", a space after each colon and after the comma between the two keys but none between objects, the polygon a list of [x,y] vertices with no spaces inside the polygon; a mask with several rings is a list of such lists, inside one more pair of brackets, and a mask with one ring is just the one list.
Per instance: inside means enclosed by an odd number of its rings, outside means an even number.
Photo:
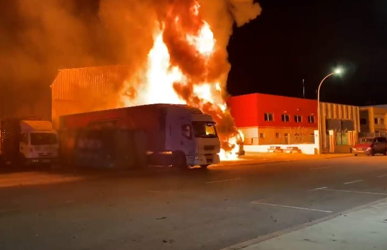
[{"label": "large white-cabbed semi truck with long trailer in front of flames", "polygon": [[[219,163],[217,153],[220,151],[220,142],[215,125],[212,117],[199,109],[173,104],[101,110],[61,116],[59,119],[60,134],[74,135],[75,131],[84,129],[142,131],[146,135],[148,164],[181,168],[207,168]],[[60,140],[61,152],[71,150],[68,147],[75,148],[76,142]]]}]

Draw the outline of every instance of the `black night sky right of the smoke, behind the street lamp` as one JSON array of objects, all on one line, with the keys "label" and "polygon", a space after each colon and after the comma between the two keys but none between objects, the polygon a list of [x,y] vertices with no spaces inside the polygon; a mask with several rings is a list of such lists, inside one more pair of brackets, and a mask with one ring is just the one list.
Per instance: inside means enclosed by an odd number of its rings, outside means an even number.
[{"label": "black night sky right of the smoke, behind the street lamp", "polygon": [[269,93],[323,101],[387,103],[387,1],[260,0],[262,14],[235,29],[229,43],[231,95]]}]

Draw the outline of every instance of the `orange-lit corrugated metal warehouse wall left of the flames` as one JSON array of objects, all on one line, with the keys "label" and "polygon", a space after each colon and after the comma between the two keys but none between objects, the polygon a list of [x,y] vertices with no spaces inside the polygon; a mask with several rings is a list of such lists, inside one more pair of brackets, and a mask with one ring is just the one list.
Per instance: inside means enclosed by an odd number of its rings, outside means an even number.
[{"label": "orange-lit corrugated metal warehouse wall left of the flames", "polygon": [[122,65],[59,70],[51,84],[54,127],[58,128],[59,116],[103,107],[107,95],[117,93],[127,76],[128,66]]}]

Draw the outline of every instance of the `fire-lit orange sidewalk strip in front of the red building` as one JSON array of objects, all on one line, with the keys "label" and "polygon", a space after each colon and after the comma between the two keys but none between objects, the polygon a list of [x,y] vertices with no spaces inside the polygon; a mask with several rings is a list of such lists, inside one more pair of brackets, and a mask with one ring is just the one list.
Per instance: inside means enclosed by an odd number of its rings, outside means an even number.
[{"label": "fire-lit orange sidewalk strip in front of the red building", "polygon": [[320,155],[304,155],[304,154],[287,154],[287,153],[253,153],[246,152],[246,155],[239,157],[237,160],[222,161],[221,165],[247,165],[247,164],[263,164],[274,162],[286,162],[295,160],[317,160],[330,159],[338,157],[350,157],[351,153],[327,153]]}]

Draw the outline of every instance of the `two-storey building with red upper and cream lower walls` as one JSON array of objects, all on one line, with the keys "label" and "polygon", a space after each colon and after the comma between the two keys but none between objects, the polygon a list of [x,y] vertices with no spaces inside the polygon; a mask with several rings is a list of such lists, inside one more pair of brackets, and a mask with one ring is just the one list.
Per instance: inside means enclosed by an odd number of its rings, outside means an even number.
[{"label": "two-storey building with red upper and cream lower walls", "polygon": [[245,145],[314,143],[317,101],[267,94],[249,94],[228,100]]}]

